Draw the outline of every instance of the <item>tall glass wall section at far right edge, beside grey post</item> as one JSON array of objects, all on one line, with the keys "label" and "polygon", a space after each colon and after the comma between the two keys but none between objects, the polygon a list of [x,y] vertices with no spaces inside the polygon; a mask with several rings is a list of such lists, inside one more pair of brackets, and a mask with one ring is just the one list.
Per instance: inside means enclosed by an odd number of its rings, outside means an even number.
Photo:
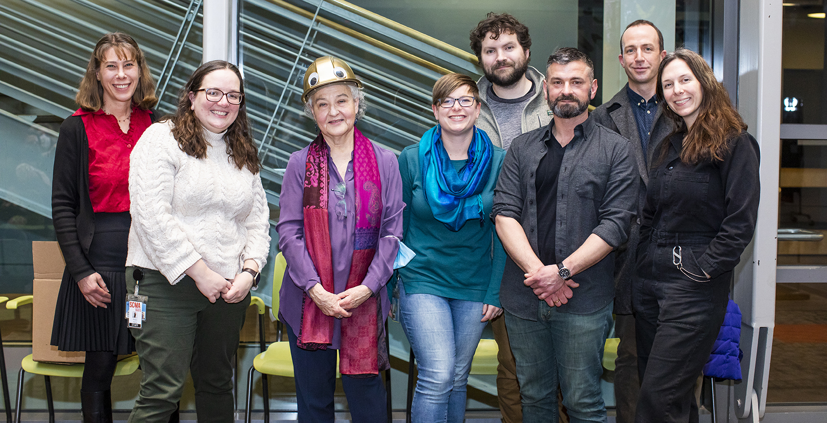
[{"label": "tall glass wall section at far right edge, beside grey post", "polygon": [[[825,2],[784,3],[782,123],[825,124]],[[791,126],[792,127],[792,126]],[[827,398],[827,131],[781,140],[776,326],[767,402]],[[820,283],[801,283],[820,282]]]}]

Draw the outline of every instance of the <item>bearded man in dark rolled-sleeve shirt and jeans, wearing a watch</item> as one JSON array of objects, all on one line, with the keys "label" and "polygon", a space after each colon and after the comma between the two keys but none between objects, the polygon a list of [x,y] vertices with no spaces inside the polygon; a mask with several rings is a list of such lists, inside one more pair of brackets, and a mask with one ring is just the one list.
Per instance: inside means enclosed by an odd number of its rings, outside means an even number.
[{"label": "bearded man in dark rolled-sleeve shirt and jeans, wearing a watch", "polygon": [[606,421],[601,356],[612,325],[614,254],[637,210],[629,140],[589,118],[594,65],[574,48],[548,58],[550,124],[514,139],[494,195],[509,254],[500,286],[523,423]]}]

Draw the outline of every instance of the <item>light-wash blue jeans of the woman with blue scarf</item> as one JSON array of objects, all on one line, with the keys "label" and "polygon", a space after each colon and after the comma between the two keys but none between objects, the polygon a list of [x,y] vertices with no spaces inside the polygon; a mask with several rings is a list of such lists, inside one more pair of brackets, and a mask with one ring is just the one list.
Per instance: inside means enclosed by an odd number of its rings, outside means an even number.
[{"label": "light-wash blue jeans of the woman with blue scarf", "polygon": [[400,323],[414,349],[419,379],[411,415],[417,423],[461,423],[471,359],[485,322],[482,302],[406,294],[399,285]]}]

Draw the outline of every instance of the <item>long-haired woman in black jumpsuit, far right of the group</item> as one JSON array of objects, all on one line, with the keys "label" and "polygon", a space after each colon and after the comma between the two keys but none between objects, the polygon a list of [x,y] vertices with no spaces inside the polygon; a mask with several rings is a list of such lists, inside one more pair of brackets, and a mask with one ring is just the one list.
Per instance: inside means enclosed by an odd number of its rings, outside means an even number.
[{"label": "long-haired woman in black jumpsuit, far right of the group", "polygon": [[[698,421],[694,386],[758,215],[758,143],[691,50],[662,60],[657,97],[676,132],[649,170],[633,287],[641,388],[635,421]],[[665,101],[665,103],[664,103]]]}]

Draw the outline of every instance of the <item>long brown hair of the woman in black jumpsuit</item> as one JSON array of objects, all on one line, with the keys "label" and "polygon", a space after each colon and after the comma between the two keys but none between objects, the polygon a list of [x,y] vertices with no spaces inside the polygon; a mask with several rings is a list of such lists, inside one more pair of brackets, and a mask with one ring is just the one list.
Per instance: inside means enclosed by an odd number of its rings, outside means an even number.
[{"label": "long brown hair of the woman in black jumpsuit", "polygon": [[[700,112],[695,123],[688,130],[683,117],[669,108],[663,96],[663,69],[675,60],[683,60],[700,83],[702,94]],[[747,131],[747,124],[729,101],[729,93],[724,88],[724,84],[715,79],[715,73],[710,65],[706,64],[704,58],[692,50],[675,50],[661,61],[661,66],[657,69],[657,98],[665,105],[663,113],[675,122],[675,131],[672,134],[686,132],[683,150],[681,150],[683,163],[697,164],[705,159],[721,161],[729,153],[727,141],[738,136],[742,131]],[[668,140],[671,136],[663,140],[660,146],[661,161],[666,159]]]}]

